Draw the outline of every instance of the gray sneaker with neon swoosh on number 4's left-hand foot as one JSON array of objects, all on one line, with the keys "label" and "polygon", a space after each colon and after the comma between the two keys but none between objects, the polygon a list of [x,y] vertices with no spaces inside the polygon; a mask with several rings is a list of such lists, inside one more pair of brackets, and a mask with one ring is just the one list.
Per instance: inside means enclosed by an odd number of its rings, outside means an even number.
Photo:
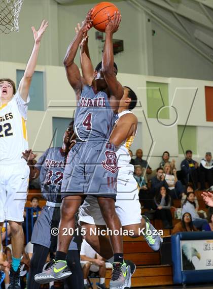
[{"label": "gray sneaker with neon swoosh on number 4's left-hand foot", "polygon": [[44,272],[36,274],[34,279],[37,283],[46,284],[55,280],[65,279],[71,274],[72,272],[67,267],[66,261],[53,260],[50,267],[48,267]]}]

